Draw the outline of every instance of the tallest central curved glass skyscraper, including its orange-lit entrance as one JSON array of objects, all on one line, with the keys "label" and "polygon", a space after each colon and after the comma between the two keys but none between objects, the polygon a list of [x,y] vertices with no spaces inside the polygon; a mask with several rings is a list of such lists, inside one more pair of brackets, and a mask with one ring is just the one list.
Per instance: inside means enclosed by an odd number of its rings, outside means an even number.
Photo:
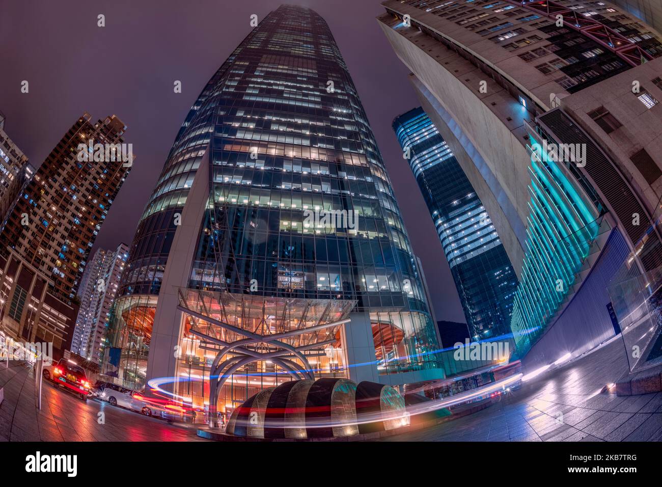
[{"label": "tallest central curved glass skyscraper, including its orange-lit entrance", "polygon": [[224,410],[291,377],[443,376],[389,177],[309,9],[271,12],[209,80],[129,254],[103,370],[127,386]]}]

